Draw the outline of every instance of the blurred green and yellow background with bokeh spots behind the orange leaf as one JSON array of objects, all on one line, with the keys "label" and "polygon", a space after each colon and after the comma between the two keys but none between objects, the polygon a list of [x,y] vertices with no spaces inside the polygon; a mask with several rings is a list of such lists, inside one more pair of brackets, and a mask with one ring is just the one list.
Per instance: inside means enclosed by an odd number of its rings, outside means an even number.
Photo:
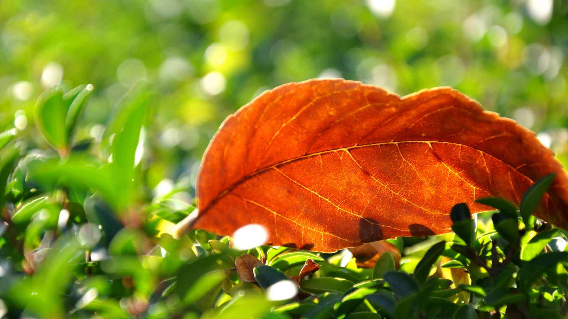
[{"label": "blurred green and yellow background with bokeh spots behind the orange leaf", "polygon": [[566,162],[565,0],[4,0],[0,35],[0,125],[27,141],[43,143],[32,108],[48,87],[94,85],[76,139],[100,140],[120,97],[149,81],[151,188],[193,183],[225,116],[315,77],[400,95],[453,86],[539,133]]}]

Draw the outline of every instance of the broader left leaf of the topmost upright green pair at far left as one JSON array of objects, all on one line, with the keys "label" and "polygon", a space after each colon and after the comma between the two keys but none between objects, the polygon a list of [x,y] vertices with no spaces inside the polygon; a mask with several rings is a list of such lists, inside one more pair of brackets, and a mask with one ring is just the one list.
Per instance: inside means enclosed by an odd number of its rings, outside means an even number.
[{"label": "broader left leaf of the topmost upright green pair at far left", "polygon": [[34,107],[34,117],[41,136],[54,149],[68,147],[69,136],[65,130],[67,106],[63,101],[63,90],[56,86],[42,93]]}]

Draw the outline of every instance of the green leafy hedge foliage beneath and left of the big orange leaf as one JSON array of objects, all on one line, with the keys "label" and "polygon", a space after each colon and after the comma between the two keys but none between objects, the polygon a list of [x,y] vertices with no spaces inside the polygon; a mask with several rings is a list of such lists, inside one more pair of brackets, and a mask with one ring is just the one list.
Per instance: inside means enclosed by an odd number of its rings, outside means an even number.
[{"label": "green leafy hedge foliage beneath and left of the big orange leaf", "polygon": [[[471,217],[458,204],[450,214],[454,233],[391,240],[403,253],[398,270],[390,253],[367,269],[346,250],[239,251],[231,238],[201,230],[174,240],[174,223],[193,211],[176,197],[186,188],[152,195],[140,183],[152,94],[133,87],[101,141],[76,141],[91,90],[55,87],[40,96],[35,121],[50,149],[27,149],[14,130],[0,134],[2,316],[567,316],[567,233],[532,216],[554,175],[534,184],[520,209],[485,198],[479,201],[496,211]],[[301,291],[282,295],[273,286],[281,282]]]}]

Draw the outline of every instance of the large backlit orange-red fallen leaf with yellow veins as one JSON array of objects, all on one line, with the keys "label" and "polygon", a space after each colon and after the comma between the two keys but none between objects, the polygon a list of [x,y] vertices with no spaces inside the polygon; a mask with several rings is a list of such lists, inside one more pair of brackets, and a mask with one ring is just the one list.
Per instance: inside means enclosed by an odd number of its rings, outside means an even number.
[{"label": "large backlit orange-red fallen leaf with yellow veins", "polygon": [[557,173],[536,216],[568,228],[568,175],[515,121],[441,87],[400,98],[313,79],[266,91],[227,117],[198,174],[193,228],[231,235],[257,223],[269,244],[336,251],[397,236],[447,233],[477,198],[519,205]]}]

